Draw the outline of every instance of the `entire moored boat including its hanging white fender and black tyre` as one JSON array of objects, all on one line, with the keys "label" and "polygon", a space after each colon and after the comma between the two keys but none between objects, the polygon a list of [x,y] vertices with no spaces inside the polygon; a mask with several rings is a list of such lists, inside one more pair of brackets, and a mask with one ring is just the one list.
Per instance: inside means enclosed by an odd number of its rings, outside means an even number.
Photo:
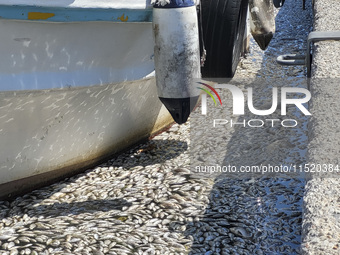
[{"label": "entire moored boat including its hanging white fender and black tyre", "polygon": [[[234,75],[247,5],[247,0],[0,0],[0,199],[88,169],[174,120],[184,123],[197,103],[201,75]],[[185,8],[195,39],[188,46],[177,36],[172,43],[192,50],[181,63],[193,69],[182,76],[185,82],[172,81],[176,94],[166,90],[166,76],[176,77],[180,69],[169,65],[176,64],[172,59],[164,63],[169,45],[158,40],[169,37],[159,28],[171,20],[157,13],[177,17],[176,29],[186,36],[188,23],[180,16]],[[175,48],[170,54],[180,55]],[[188,103],[191,98],[194,103]]]}]

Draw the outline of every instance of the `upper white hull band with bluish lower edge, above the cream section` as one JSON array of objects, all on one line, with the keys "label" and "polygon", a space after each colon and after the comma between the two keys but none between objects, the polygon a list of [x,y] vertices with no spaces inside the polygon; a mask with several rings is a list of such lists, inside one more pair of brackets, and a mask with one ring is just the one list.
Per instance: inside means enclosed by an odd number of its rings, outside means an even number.
[{"label": "upper white hull band with bluish lower edge, above the cream section", "polygon": [[0,90],[103,85],[154,70],[151,23],[1,20]]}]

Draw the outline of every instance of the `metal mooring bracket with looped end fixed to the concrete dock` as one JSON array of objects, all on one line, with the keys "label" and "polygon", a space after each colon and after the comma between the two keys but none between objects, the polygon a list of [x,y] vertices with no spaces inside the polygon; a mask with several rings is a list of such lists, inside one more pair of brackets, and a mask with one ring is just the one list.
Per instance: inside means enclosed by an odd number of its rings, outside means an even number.
[{"label": "metal mooring bracket with looped end fixed to the concrete dock", "polygon": [[311,77],[312,68],[312,43],[320,41],[330,41],[337,40],[340,41],[340,31],[314,31],[309,33],[307,39],[307,54],[297,55],[297,54],[286,54],[279,56],[276,61],[280,65],[306,65],[307,66],[307,77]]}]

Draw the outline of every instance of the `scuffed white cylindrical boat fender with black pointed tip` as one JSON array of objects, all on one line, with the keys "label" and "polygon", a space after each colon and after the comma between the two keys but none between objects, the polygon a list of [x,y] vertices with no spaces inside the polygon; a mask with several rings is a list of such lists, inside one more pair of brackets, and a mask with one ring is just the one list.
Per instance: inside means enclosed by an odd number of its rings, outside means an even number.
[{"label": "scuffed white cylindrical boat fender with black pointed tip", "polygon": [[159,0],[153,8],[158,97],[178,123],[185,123],[200,90],[200,48],[194,0]]}]

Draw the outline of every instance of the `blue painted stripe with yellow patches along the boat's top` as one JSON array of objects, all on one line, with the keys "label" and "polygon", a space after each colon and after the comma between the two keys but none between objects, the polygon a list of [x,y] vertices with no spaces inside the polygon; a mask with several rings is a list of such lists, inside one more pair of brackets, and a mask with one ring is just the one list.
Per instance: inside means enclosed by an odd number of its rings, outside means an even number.
[{"label": "blue painted stripe with yellow patches along the boat's top", "polygon": [[0,5],[0,19],[50,22],[152,22],[152,9],[52,8]]}]

